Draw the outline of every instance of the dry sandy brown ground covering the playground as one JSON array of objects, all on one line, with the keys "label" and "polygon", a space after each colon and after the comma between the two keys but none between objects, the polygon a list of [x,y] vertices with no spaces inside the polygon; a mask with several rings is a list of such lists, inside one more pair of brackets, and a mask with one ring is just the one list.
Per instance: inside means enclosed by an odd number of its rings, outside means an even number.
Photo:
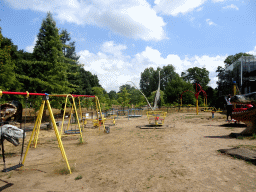
[{"label": "dry sandy brown ground covering the playground", "polygon": [[[110,134],[85,128],[84,144],[79,144],[78,136],[63,137],[73,170],[67,175],[60,174],[66,163],[54,131],[41,130],[39,145],[29,149],[24,168],[1,172],[0,187],[6,186],[5,192],[256,191],[256,166],[217,151],[256,146],[256,140],[226,137],[241,132],[243,125],[232,128],[224,115],[216,113],[213,119],[211,115],[168,114],[162,129],[136,128],[148,124],[146,116],[120,118],[110,126]],[[6,161],[10,166],[19,157]]]}]

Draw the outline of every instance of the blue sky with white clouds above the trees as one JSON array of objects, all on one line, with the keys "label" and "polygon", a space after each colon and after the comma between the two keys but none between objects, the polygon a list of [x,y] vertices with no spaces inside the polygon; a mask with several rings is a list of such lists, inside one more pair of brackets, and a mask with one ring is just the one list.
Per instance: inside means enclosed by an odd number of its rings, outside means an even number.
[{"label": "blue sky with white clouds above the trees", "polygon": [[215,88],[228,55],[256,55],[254,0],[3,0],[2,34],[33,52],[48,11],[108,92],[127,81],[139,87],[146,68],[168,64],[178,74],[205,67]]}]

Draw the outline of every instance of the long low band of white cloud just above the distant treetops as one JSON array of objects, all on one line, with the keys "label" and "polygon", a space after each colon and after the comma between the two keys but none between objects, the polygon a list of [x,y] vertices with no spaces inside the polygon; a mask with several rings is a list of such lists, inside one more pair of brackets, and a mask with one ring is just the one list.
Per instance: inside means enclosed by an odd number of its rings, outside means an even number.
[{"label": "long low band of white cloud just above the distant treetops", "polygon": [[[128,57],[123,51],[126,49],[125,45],[116,45],[112,41],[105,42],[101,51],[93,54],[88,50],[80,51],[80,63],[85,64],[85,70],[96,74],[100,80],[100,84],[108,92],[111,90],[118,91],[121,85],[132,81],[139,87],[140,75],[148,67],[163,67],[172,64],[175,71],[180,75],[181,72],[186,71],[192,67],[205,67],[210,72],[211,82],[209,86],[215,88],[217,81],[217,73],[215,72],[218,66],[224,67],[225,56],[185,56],[181,59],[178,55],[169,54],[164,58],[157,49],[146,47],[144,51],[137,53],[135,56]],[[113,54],[116,50],[118,54]]]}]

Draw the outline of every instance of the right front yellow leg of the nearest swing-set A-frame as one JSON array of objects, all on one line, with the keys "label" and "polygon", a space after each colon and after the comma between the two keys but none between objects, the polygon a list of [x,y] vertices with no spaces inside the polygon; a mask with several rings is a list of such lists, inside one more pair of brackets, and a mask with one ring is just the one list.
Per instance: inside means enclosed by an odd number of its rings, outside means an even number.
[{"label": "right front yellow leg of the nearest swing-set A-frame", "polygon": [[59,131],[58,131],[55,119],[54,119],[54,115],[53,115],[53,112],[52,112],[52,108],[51,108],[51,105],[50,105],[50,102],[49,102],[48,98],[46,98],[46,105],[47,105],[47,108],[48,108],[49,113],[50,113],[51,121],[52,121],[52,124],[53,124],[53,127],[54,127],[55,135],[56,135],[57,140],[58,140],[58,144],[59,144],[59,148],[60,148],[62,157],[66,161],[69,173],[71,174],[71,169],[70,169],[70,166],[69,166],[69,163],[68,163],[68,159],[67,159],[67,156],[66,156],[66,153],[65,153],[62,141],[61,141],[61,137],[60,137],[60,134],[59,134]]}]

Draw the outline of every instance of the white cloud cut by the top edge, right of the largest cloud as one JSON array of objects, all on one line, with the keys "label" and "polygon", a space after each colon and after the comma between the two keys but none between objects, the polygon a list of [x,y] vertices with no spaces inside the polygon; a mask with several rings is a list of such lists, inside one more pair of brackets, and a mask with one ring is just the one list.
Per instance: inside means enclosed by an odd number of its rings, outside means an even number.
[{"label": "white cloud cut by the top edge, right of the largest cloud", "polygon": [[178,14],[186,14],[200,7],[206,0],[156,0],[154,9],[164,15],[177,16]]}]

